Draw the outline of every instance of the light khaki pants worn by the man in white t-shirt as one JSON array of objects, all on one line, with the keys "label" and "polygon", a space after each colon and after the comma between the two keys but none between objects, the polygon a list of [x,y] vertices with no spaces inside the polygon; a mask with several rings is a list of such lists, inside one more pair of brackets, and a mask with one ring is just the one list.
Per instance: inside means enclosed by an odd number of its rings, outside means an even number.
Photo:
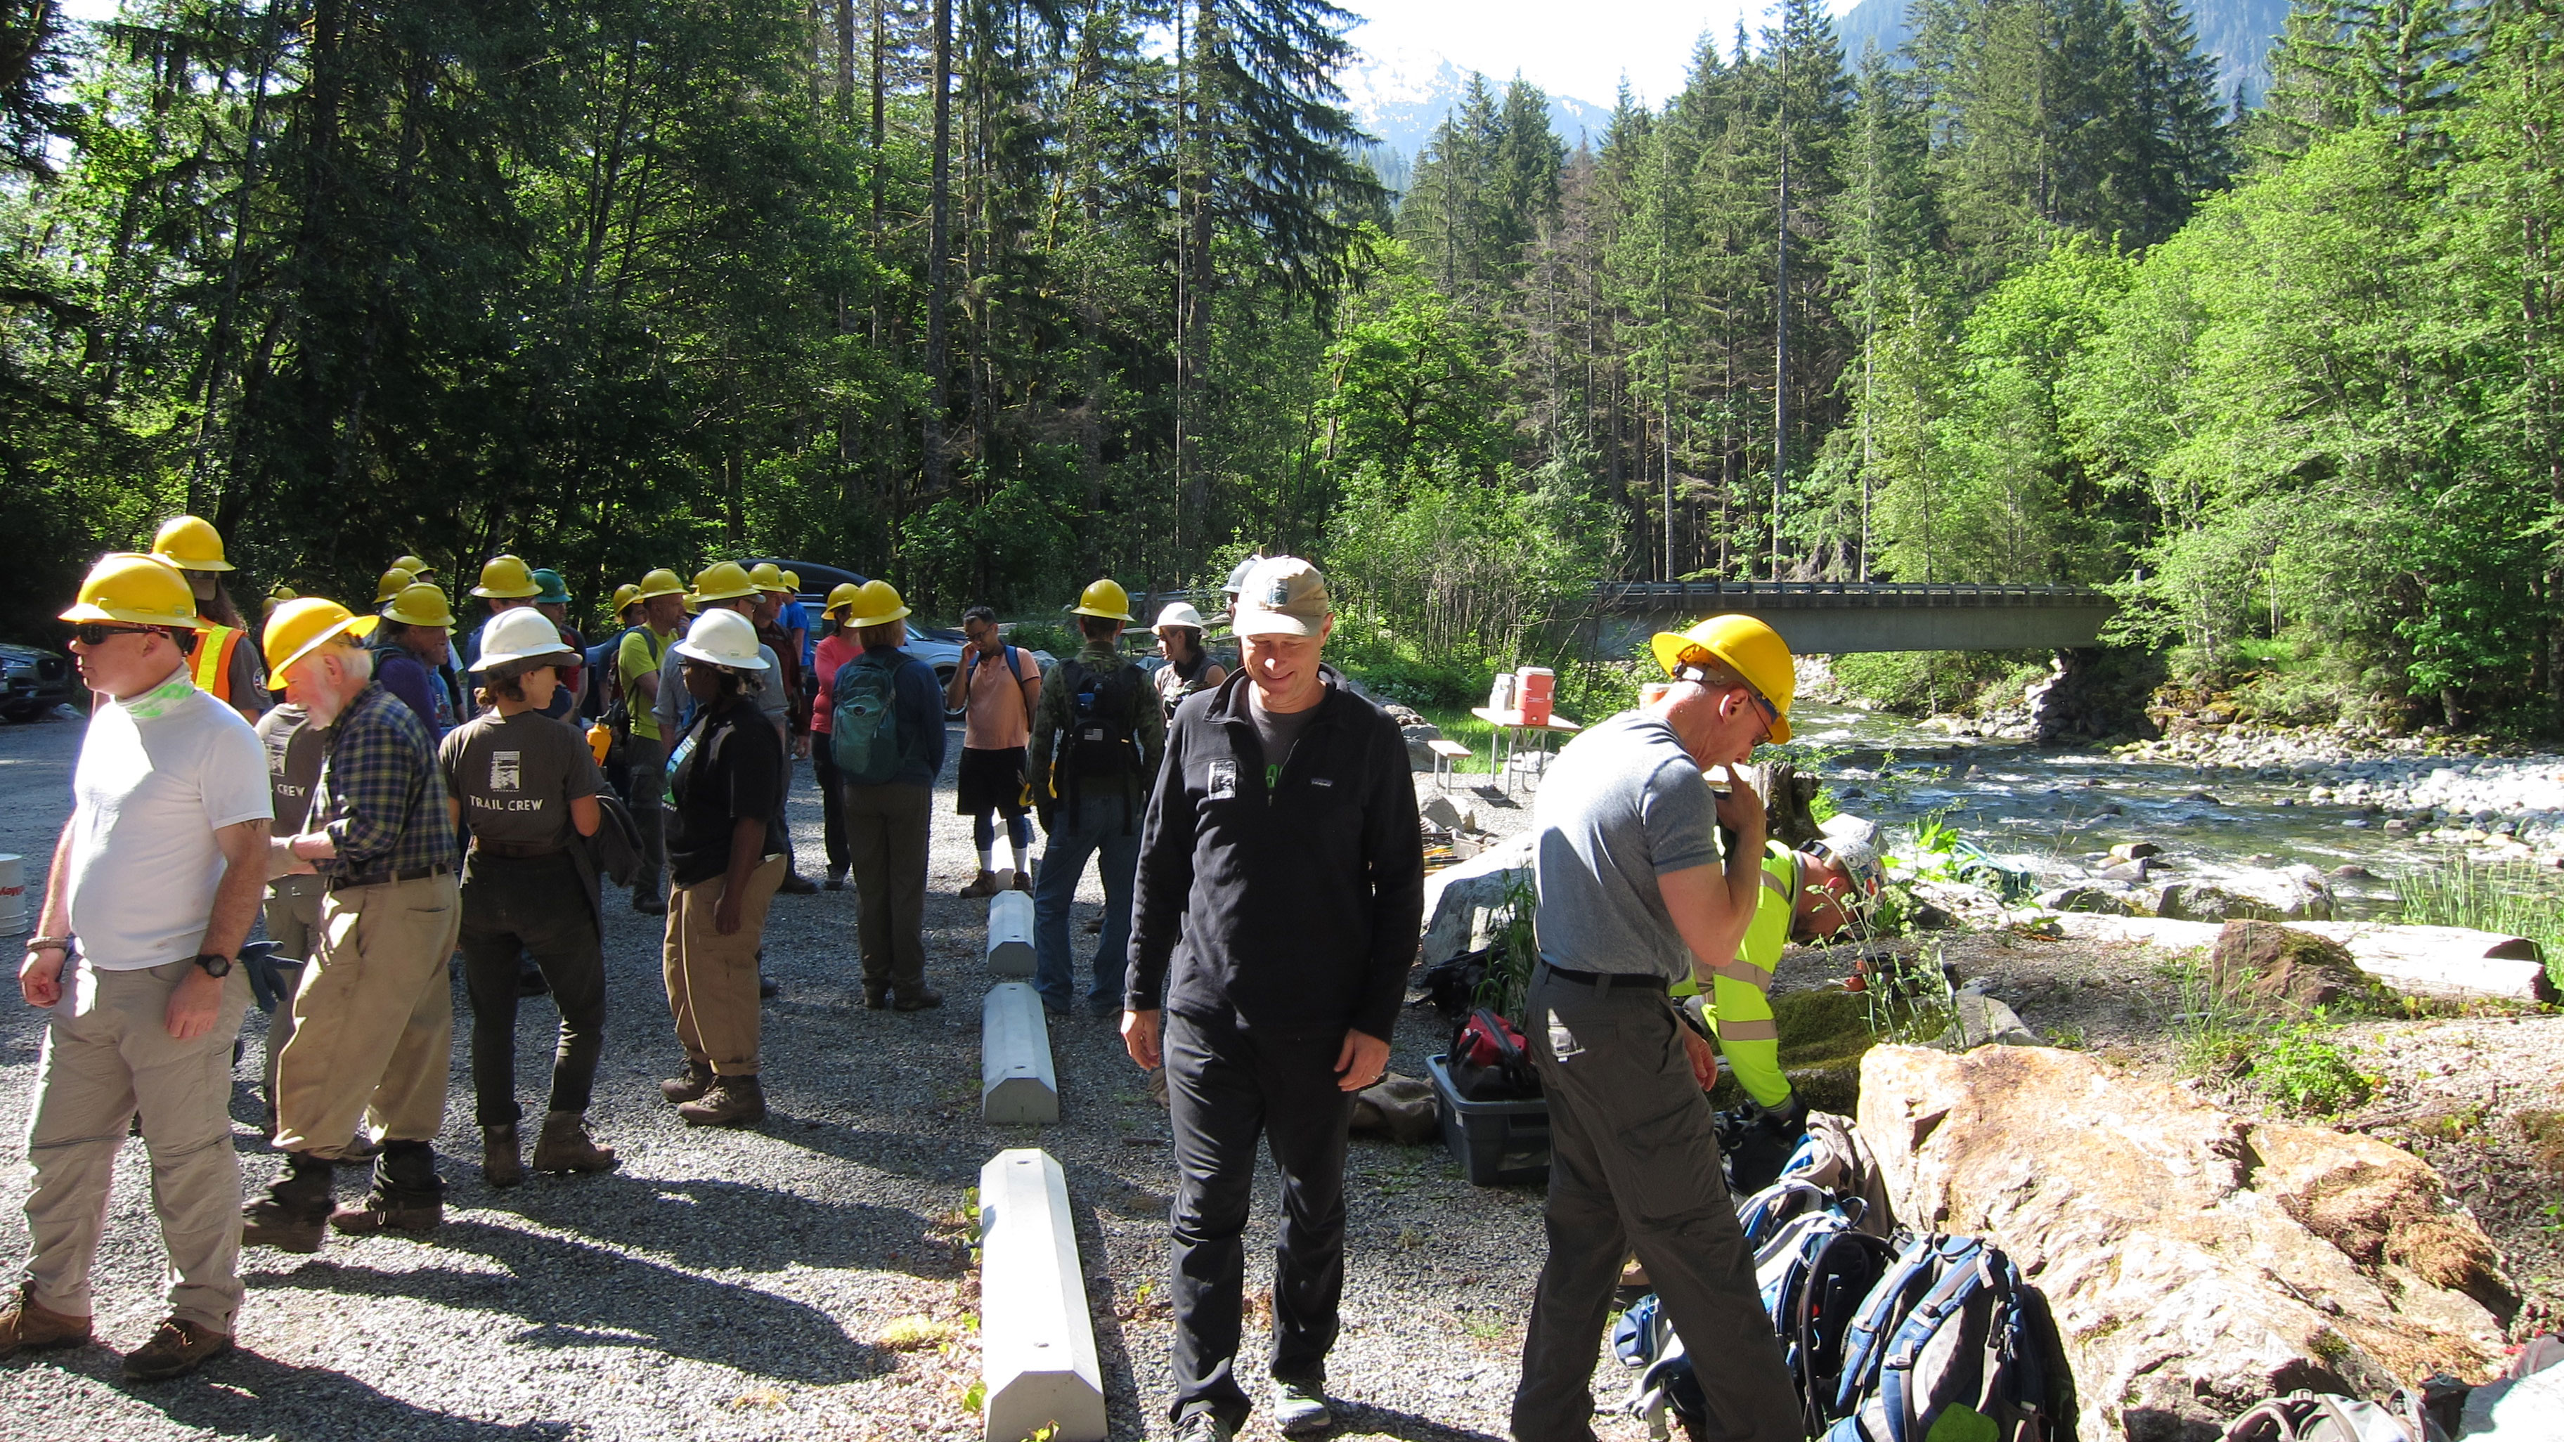
[{"label": "light khaki pants worn by the man in white t-shirt", "polygon": [[241,1311],[241,1157],[231,1149],[231,1039],[249,1011],[249,972],[223,983],[213,1029],[169,1037],[169,993],[195,962],[64,970],[36,1062],[26,1126],[26,1193],[36,1301],[90,1316],[90,1265],[108,1229],[108,1180],[133,1108],[151,1152],[151,1209],[169,1252],[169,1316],[231,1334]]}]

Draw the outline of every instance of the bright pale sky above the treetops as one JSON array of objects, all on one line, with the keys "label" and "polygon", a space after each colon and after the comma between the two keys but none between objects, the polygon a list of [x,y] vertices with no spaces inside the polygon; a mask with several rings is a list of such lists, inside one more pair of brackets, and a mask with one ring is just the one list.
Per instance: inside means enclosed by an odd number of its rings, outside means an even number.
[{"label": "bright pale sky above the treetops", "polygon": [[[1461,69],[1523,80],[1551,95],[1610,105],[1631,90],[1661,103],[1682,90],[1692,46],[1736,18],[1761,26],[1767,0],[1336,0],[1364,18],[1354,44],[1374,54],[1441,51]],[[1849,5],[1828,5],[1844,10]]]}]

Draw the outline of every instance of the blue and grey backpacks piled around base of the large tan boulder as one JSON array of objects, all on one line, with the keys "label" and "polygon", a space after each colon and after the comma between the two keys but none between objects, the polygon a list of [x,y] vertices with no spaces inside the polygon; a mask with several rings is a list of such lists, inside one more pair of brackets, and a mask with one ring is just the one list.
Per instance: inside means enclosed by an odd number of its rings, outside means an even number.
[{"label": "blue and grey backpacks piled around base of the large tan boulder", "polygon": [[[1895,1226],[1849,1119],[1810,1114],[1779,1180],[1738,1201],[1736,1221],[1808,1437],[2074,1439],[2074,1378],[2046,1298],[1982,1237]],[[1669,1437],[1669,1421],[1705,1434],[1700,1380],[1654,1293],[1613,1324],[1613,1352],[1638,1370],[1628,1411],[1654,1437]],[[2515,1388],[2515,1404],[2495,1411]],[[2549,1396],[2564,1401],[2564,1344],[2541,1337],[2502,1380],[2433,1378],[2382,1404],[2300,1391],[2249,1409],[2226,1442],[2564,1442]]]}]

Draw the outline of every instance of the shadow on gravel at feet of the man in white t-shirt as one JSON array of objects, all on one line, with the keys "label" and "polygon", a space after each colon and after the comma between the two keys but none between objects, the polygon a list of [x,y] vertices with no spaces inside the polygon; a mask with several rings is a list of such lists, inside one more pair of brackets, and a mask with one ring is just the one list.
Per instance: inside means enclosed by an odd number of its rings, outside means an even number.
[{"label": "shadow on gravel at feet of the man in white t-shirt", "polygon": [[428,1411],[385,1396],[356,1378],[323,1368],[292,1368],[236,1347],[192,1378],[169,1383],[126,1383],[121,1357],[105,1347],[82,1347],[49,1362],[115,1388],[159,1409],[179,1427],[213,1437],[272,1437],[277,1442],[377,1442],[415,1437],[420,1442],[551,1442],[577,1434],[569,1421],[497,1424],[451,1411]]}]

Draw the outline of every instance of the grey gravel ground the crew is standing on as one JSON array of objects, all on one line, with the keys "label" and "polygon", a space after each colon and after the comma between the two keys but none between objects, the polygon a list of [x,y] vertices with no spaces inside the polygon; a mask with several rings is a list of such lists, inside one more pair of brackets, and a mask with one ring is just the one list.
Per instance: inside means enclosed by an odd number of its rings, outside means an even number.
[{"label": "grey gravel ground the crew is standing on", "polygon": [[[0,726],[0,852],[41,878],[69,808],[79,718]],[[954,739],[959,747],[959,736]],[[951,780],[944,788],[949,793]],[[1505,808],[1490,806],[1490,813]],[[792,803],[803,870],[820,870],[818,793]],[[949,1003],[864,1011],[854,893],[777,898],[767,970],[762,1132],[692,1132],[656,1096],[674,1070],[659,934],[608,895],[610,1016],[592,1119],[623,1167],[479,1178],[469,1114],[469,1008],[456,988],[454,1103],[441,1139],[446,1226],[426,1242],[331,1237],[318,1257],[249,1252],[238,1352],[197,1378],[118,1380],[118,1355],[159,1319],[159,1234],[144,1149],[118,1162],[97,1262],[97,1347],[0,1362],[0,1437],[485,1439],[485,1437],[974,1437],[977,1378],[967,1191],[1003,1147],[1046,1147],[1069,1175],[1113,1437],[1161,1437],[1167,1398],[1167,1121],[1105,1021],[1054,1029],[1067,1124],[977,1116],[982,903],[969,829],[938,803],[928,967]],[[1100,911],[1087,878],[1079,924]],[[1079,929],[1079,952],[1092,937]],[[246,1183],[277,1160],[256,1129],[264,1021],[233,1078]],[[541,1106],[554,1014],[518,1021],[518,1096]],[[38,1016],[0,1003],[0,1132],[21,1137]],[[1392,1070],[1441,1049],[1423,1011]],[[341,1196],[362,1180],[341,1175]],[[1354,1142],[1344,1337],[1331,1393],[1346,1437],[1500,1437],[1541,1260],[1538,1188],[1472,1188],[1441,1147]],[[1249,1257],[1269,1257],[1272,1175]],[[0,1252],[26,1247],[26,1173],[0,1175]],[[1259,1288],[1267,1262],[1249,1268]],[[892,1327],[895,1319],[918,1319]],[[887,1334],[887,1337],[885,1337]],[[941,1337],[941,1339],[938,1339]],[[920,1344],[923,1342],[923,1344]],[[1264,1344],[1249,1321],[1246,1355]],[[1249,1373],[1254,1368],[1249,1365]],[[1597,1368],[1605,1401],[1626,1388]],[[1631,1419],[1597,1419],[1636,1442]],[[1259,1416],[1251,1437],[1272,1437]]]}]

